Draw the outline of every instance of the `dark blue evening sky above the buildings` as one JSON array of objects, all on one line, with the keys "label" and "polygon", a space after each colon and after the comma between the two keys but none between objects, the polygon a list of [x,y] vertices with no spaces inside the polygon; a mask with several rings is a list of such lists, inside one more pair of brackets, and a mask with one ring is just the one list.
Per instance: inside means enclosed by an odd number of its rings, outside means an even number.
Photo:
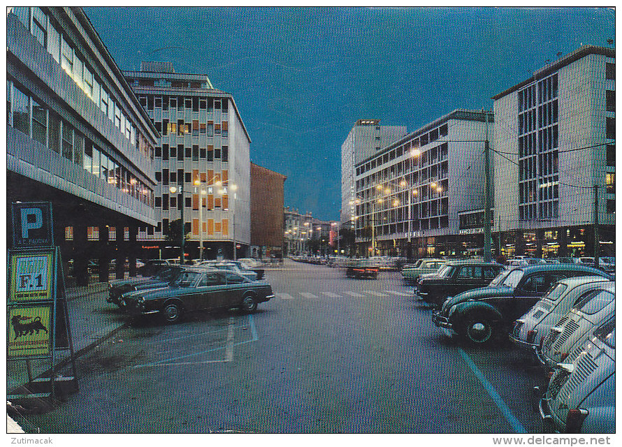
[{"label": "dark blue evening sky above the buildings", "polygon": [[356,119],[408,131],[491,108],[558,52],[611,46],[605,8],[85,8],[117,64],[171,61],[233,94],[285,205],[338,219]]}]

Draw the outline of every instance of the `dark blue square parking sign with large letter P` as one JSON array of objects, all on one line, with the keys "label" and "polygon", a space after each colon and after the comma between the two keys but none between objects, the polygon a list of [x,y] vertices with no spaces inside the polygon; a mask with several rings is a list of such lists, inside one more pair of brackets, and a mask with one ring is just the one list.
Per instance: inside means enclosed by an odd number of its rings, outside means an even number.
[{"label": "dark blue square parking sign with large letter P", "polygon": [[52,247],[52,204],[17,202],[11,204],[13,248]]}]

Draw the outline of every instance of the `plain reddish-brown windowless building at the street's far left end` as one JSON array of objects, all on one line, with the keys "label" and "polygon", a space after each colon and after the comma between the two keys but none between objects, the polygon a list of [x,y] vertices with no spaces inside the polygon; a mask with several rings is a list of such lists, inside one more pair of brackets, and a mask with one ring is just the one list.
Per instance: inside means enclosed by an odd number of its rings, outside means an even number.
[{"label": "plain reddish-brown windowless building at the street's far left end", "polygon": [[250,163],[250,256],[282,256],[285,179]]}]

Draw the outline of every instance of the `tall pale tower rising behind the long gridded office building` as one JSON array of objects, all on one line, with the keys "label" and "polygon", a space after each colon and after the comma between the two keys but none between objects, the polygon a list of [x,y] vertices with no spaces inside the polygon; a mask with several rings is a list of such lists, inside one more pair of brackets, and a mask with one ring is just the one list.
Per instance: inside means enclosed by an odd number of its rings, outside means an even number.
[{"label": "tall pale tower rising behind the long gridded office building", "polygon": [[405,126],[380,126],[379,119],[359,119],[341,145],[341,223],[354,215],[354,166],[406,133]]}]

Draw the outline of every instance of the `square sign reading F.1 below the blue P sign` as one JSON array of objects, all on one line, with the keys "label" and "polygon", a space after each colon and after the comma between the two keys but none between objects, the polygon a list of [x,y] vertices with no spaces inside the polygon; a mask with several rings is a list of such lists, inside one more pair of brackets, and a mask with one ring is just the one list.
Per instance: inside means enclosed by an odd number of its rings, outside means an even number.
[{"label": "square sign reading F.1 below the blue P sign", "polygon": [[11,254],[9,301],[54,300],[52,252]]}]

